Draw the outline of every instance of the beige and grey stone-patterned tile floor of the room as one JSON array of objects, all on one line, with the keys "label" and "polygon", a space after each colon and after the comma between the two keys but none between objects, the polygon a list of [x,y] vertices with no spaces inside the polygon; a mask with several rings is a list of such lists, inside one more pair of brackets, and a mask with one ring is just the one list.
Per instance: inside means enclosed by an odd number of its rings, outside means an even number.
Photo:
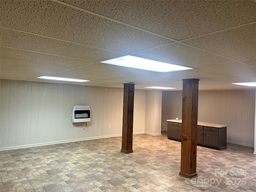
[{"label": "beige and grey stone-patterned tile floor of the room", "polygon": [[223,151],[198,146],[198,178],[179,176],[180,142],[166,135],[134,135],[134,153],[121,137],[0,152],[1,192],[252,192],[253,148]]}]

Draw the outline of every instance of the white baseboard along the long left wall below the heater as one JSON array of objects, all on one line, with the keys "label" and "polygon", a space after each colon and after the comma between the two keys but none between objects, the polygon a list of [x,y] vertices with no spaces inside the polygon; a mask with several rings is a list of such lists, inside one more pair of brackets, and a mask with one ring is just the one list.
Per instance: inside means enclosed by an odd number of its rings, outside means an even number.
[{"label": "white baseboard along the long left wall below the heater", "polygon": [[[134,132],[133,134],[135,135],[135,134],[144,134],[144,133],[145,132]],[[20,145],[20,146],[12,146],[12,147],[4,147],[4,148],[0,148],[0,151],[14,150],[14,149],[20,149],[20,148],[29,148],[29,147],[38,147],[38,146],[60,144],[60,143],[70,143],[70,142],[77,142],[77,141],[86,141],[86,140],[93,140],[93,139],[119,137],[119,136],[122,136],[122,134],[80,138],[80,139],[71,139],[71,140],[62,140],[62,141],[54,141],[54,142],[46,142],[46,143],[36,143],[36,144]]]}]

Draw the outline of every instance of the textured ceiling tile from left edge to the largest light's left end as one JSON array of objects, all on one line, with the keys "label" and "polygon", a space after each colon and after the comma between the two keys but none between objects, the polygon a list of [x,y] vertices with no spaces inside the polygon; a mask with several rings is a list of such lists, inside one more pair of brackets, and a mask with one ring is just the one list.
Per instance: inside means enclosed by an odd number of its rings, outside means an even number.
[{"label": "textured ceiling tile from left edge to the largest light's left end", "polygon": [[122,56],[122,54],[116,52],[73,44],[24,32],[8,30],[5,28],[0,28],[0,33],[1,46],[11,48],[32,50],[40,53],[54,54],[58,56],[66,56],[90,61],[101,61]]}]

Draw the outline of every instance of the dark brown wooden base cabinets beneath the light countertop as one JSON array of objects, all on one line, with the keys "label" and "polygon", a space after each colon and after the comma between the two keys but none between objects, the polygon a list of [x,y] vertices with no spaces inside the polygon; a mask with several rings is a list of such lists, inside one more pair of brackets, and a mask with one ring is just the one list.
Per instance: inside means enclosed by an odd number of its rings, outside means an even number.
[{"label": "dark brown wooden base cabinets beneath the light countertop", "polygon": [[[182,123],[168,122],[167,137],[171,140],[181,141]],[[217,150],[227,148],[227,128],[197,126],[197,144]]]}]

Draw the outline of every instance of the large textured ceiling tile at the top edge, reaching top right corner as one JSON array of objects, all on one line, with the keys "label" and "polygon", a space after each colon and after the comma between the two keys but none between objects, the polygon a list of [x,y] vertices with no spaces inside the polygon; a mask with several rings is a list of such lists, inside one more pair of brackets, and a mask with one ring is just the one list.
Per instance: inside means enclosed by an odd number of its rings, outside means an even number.
[{"label": "large textured ceiling tile at the top edge, reaching top right corner", "polygon": [[182,40],[254,22],[254,1],[64,1],[132,26]]}]

